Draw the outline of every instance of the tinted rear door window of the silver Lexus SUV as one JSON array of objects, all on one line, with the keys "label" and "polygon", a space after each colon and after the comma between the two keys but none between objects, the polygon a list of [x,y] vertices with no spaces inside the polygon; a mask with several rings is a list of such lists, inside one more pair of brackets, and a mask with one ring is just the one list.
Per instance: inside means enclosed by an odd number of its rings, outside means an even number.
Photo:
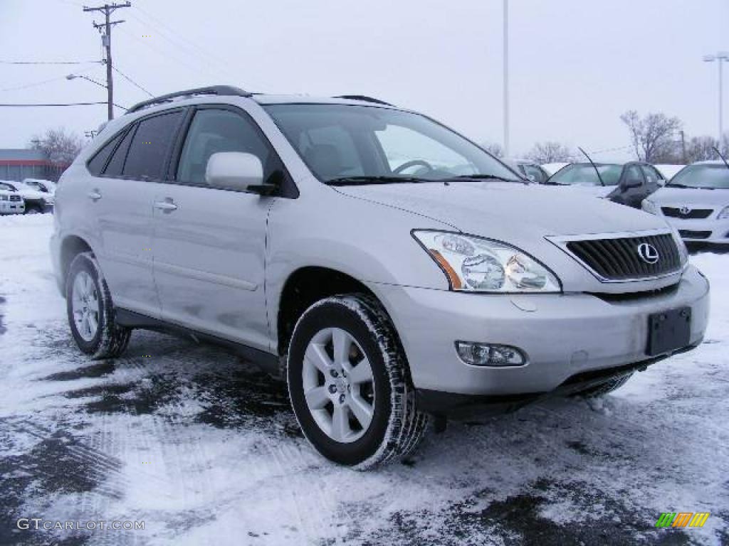
[{"label": "tinted rear door window of the silver Lexus SUV", "polygon": [[129,178],[163,178],[168,152],[180,122],[182,111],[161,114],[139,122],[122,174]]}]

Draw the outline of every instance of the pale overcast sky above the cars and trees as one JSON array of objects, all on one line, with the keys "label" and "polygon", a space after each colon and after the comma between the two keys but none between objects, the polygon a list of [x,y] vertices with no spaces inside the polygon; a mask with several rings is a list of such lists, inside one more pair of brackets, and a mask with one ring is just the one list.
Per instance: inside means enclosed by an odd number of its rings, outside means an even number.
[{"label": "pale overcast sky above the cars and trees", "polygon": [[[502,141],[502,0],[131,1],[114,14],[126,21],[113,31],[114,66],[155,95],[207,84],[373,95]],[[82,5],[0,0],[0,61],[100,59],[101,17]],[[546,140],[627,146],[619,116],[629,108],[716,135],[717,65],[702,56],[729,50],[728,25],[728,0],[510,0],[512,155]],[[0,63],[0,103],[106,100],[71,72],[105,78],[98,63]],[[114,87],[122,106],[147,96],[118,74]],[[106,106],[0,108],[0,148],[105,118]]]}]

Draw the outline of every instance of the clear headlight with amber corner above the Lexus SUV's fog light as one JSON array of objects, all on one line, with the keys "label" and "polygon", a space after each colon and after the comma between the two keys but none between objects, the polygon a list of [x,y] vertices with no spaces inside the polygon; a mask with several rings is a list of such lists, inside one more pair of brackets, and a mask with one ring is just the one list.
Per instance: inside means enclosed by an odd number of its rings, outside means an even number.
[{"label": "clear headlight with amber corner above the Lexus SUV's fog light", "polygon": [[448,232],[414,231],[413,237],[443,269],[451,290],[561,292],[545,266],[503,242]]}]

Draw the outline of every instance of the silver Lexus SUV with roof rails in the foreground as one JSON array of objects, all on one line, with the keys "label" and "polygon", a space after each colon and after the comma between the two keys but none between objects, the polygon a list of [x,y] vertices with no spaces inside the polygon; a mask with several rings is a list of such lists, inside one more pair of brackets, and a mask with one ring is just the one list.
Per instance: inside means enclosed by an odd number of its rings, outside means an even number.
[{"label": "silver Lexus SUV with roof rails in the foreground", "polygon": [[52,258],[71,333],[232,347],[288,382],[352,467],[433,416],[599,395],[695,347],[709,284],[660,218],[529,184],[421,114],[235,87],[149,100],[64,173]]}]

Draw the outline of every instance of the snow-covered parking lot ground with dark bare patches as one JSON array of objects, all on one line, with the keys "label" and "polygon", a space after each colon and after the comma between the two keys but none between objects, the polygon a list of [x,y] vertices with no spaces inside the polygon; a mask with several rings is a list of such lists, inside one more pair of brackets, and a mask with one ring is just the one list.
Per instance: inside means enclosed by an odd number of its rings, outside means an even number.
[{"label": "snow-covered parking lot ground with dark bare patches", "polygon": [[[0,545],[729,544],[729,254],[692,257],[713,289],[695,351],[592,408],[451,424],[361,473],[314,453],[284,386],[221,349],[136,331],[119,360],[82,356],[51,229],[0,218]],[[655,529],[665,511],[711,516]]]}]

